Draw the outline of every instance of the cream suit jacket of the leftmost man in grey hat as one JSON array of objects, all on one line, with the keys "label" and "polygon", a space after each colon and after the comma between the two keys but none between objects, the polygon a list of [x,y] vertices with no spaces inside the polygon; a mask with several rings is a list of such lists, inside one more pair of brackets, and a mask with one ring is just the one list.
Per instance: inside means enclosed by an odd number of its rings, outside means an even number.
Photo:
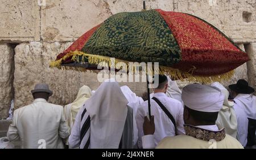
[{"label": "cream suit jacket of the leftmost man in grey hat", "polygon": [[64,148],[61,139],[69,136],[63,107],[38,98],[31,105],[14,111],[7,137],[20,139],[22,148]]}]

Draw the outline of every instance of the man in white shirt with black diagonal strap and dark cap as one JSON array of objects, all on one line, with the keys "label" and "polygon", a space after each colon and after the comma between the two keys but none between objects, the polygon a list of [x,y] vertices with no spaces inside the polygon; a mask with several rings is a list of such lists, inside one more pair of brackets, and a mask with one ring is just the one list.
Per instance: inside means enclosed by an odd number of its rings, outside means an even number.
[{"label": "man in white shirt with black diagonal strap and dark cap", "polygon": [[[170,98],[166,95],[168,88],[168,79],[165,75],[155,75],[154,84],[158,79],[158,85],[154,88],[151,103],[151,115],[154,115],[155,133],[153,144],[156,146],[160,140],[166,136],[184,135],[183,105],[180,101]],[[148,102],[139,106],[136,122],[138,128],[138,146],[142,148],[143,122],[144,117],[148,115]],[[151,143],[151,141],[148,141]]]}]

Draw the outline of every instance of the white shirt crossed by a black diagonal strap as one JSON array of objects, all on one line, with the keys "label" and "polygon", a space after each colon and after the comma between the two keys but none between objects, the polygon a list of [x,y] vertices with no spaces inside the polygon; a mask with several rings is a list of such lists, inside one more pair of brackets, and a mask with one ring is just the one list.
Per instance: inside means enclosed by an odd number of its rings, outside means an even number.
[{"label": "white shirt crossed by a black diagonal strap", "polygon": [[[155,93],[154,97],[163,103],[166,109],[174,116],[177,134],[184,135],[184,120],[183,120],[183,105],[181,102],[174,100],[173,98],[167,97],[165,93]],[[155,121],[155,133],[154,133],[154,145],[156,146],[164,137],[175,136],[175,127],[171,120],[168,118],[166,113],[160,108],[158,103],[151,99],[151,115],[154,115]],[[142,148],[142,136],[143,133],[143,122],[144,117],[148,115],[148,102],[139,106],[136,115],[137,127],[138,127],[138,146]]]}]

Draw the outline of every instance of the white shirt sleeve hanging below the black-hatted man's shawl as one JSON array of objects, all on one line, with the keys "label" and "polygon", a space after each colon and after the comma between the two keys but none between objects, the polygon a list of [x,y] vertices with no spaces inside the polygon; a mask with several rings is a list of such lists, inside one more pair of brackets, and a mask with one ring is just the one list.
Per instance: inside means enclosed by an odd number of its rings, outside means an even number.
[{"label": "white shirt sleeve hanging below the black-hatted man's shawl", "polygon": [[245,147],[247,144],[248,118],[243,106],[237,105],[235,102],[233,108],[237,117],[237,140]]}]

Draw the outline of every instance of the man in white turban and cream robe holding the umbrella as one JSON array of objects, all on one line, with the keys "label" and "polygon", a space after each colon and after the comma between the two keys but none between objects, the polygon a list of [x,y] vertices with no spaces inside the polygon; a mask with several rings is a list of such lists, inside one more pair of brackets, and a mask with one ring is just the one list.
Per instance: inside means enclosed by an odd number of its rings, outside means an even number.
[{"label": "man in white turban and cream robe holding the umbrella", "polygon": [[[166,137],[156,148],[243,148],[240,142],[225,134],[225,128],[216,125],[218,111],[224,102],[220,89],[191,84],[183,88],[181,97],[185,105],[183,118],[186,135]],[[150,144],[148,141],[152,141],[152,133],[155,131],[152,122],[153,119],[149,122],[145,118],[143,129],[146,136],[142,138],[144,148],[152,148],[146,146]]]}]

